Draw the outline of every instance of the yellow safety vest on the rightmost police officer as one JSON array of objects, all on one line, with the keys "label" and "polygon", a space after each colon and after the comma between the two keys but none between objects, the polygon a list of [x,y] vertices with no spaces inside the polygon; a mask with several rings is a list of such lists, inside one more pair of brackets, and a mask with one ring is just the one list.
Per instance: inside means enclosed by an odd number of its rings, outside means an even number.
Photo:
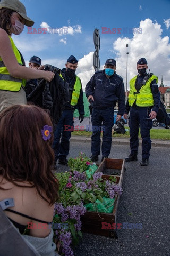
[{"label": "yellow safety vest on the rightmost police officer", "polygon": [[139,107],[150,107],[154,105],[154,99],[153,94],[151,92],[150,83],[156,79],[156,82],[158,83],[158,77],[155,75],[152,75],[148,81],[146,82],[146,85],[143,85],[138,93],[137,89],[135,89],[135,81],[137,79],[137,76],[133,77],[130,81],[130,92],[129,92],[129,105],[132,107],[133,103]]}]

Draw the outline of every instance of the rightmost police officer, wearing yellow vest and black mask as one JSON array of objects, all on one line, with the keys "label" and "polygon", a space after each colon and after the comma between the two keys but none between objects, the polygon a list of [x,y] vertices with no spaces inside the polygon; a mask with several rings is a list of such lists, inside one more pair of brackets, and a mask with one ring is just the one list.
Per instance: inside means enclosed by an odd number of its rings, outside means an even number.
[{"label": "rightmost police officer, wearing yellow vest and black mask", "polygon": [[139,146],[139,125],[142,137],[142,161],[141,166],[149,164],[151,149],[150,129],[152,128],[152,119],[156,118],[159,105],[160,93],[158,89],[158,77],[153,73],[147,74],[148,65],[145,58],[137,62],[139,75],[130,81],[129,99],[126,102],[125,119],[128,119],[130,111],[130,148],[131,153],[125,158],[125,161],[137,161]]}]

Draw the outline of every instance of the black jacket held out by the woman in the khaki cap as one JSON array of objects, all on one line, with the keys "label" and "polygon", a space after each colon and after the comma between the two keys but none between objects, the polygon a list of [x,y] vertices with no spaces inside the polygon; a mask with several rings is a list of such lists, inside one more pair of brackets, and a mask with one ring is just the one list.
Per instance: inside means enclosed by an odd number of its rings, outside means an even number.
[{"label": "black jacket held out by the woman in the khaki cap", "polygon": [[68,84],[60,77],[60,69],[52,65],[45,65],[45,70],[53,71],[55,76],[51,82],[38,79],[35,90],[28,95],[27,101],[41,108],[49,109],[53,124],[56,125],[62,115],[62,110],[68,98]]}]

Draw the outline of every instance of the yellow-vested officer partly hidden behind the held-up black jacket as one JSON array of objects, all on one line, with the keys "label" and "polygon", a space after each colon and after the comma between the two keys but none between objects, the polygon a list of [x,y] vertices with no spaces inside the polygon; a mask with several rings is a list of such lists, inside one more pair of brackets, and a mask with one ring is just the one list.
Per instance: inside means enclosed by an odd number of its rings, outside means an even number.
[{"label": "yellow-vested officer partly hidden behind the held-up black jacket", "polygon": [[[71,55],[65,64],[66,68],[61,70],[61,77],[69,84],[69,100],[67,101],[62,117],[54,131],[53,149],[55,152],[55,163],[67,165],[66,159],[69,154],[71,132],[74,129],[73,113],[78,108],[80,123],[84,119],[83,90],[80,78],[75,75],[78,60]],[[61,137],[61,140],[60,140]],[[55,166],[56,169],[56,166]]]}]

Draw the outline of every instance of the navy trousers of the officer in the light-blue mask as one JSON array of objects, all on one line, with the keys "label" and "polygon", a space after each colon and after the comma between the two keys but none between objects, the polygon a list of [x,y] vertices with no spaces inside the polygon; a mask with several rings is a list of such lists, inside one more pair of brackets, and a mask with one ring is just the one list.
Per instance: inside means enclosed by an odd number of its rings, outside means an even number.
[{"label": "navy trousers of the officer in the light-blue mask", "polygon": [[114,108],[107,109],[92,109],[92,136],[91,136],[91,153],[92,155],[100,155],[100,135],[101,135],[101,126],[103,130],[102,138],[102,156],[108,157],[111,153],[112,146],[112,127],[114,124]]}]

